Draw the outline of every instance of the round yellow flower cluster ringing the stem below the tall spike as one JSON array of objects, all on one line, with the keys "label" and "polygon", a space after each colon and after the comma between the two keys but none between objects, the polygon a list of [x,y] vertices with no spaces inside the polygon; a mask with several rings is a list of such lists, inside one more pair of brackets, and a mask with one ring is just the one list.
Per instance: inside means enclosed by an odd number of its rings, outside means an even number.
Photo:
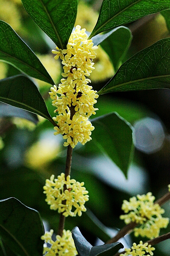
[{"label": "round yellow flower cluster ringing the stem below the tall spike", "polygon": [[[66,186],[66,189],[64,189]],[[44,186],[44,193],[47,195],[46,202],[50,204],[51,210],[58,210],[58,213],[63,213],[65,217],[79,216],[82,212],[86,211],[84,206],[85,202],[88,201],[88,191],[84,186],[84,182],[76,182],[76,180],[71,179],[70,175],[67,176],[65,180],[65,174],[57,176],[54,179],[54,175],[51,175],[50,180],[46,180],[46,185]],[[65,201],[65,204],[63,203]],[[75,210],[72,212],[72,207]]]}]

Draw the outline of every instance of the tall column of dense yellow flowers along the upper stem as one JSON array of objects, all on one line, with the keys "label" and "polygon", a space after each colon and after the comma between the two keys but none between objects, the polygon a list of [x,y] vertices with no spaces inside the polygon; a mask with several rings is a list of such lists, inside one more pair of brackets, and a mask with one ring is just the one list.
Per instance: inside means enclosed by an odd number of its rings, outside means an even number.
[{"label": "tall column of dense yellow flowers along the upper stem", "polygon": [[58,51],[52,50],[52,53],[56,54],[54,59],[62,59],[62,76],[65,77],[61,79],[58,88],[54,85],[49,93],[53,100],[52,105],[56,107],[54,113],[58,112],[58,115],[53,117],[58,123],[58,127],[54,127],[54,134],[64,135],[63,139],[67,139],[64,146],[71,145],[72,148],[78,142],[84,145],[91,140],[94,126],[88,118],[98,110],[94,108],[94,104],[99,96],[97,91],[88,85],[90,79],[86,78],[94,69],[92,59],[96,58],[95,50],[98,47],[94,46],[92,40],[88,40],[85,31],[86,29],[81,30],[77,25],[70,35],[67,49],[56,47]]}]

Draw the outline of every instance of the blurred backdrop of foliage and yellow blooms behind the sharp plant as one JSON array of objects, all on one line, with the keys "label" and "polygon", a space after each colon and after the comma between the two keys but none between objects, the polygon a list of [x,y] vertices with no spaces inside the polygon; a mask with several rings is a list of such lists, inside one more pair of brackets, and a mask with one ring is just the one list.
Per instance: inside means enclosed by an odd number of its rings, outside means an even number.
[{"label": "blurred backdrop of foliage and yellow blooms behind the sharp plant", "polygon": [[[102,1],[79,1],[75,25],[91,32],[98,19]],[[20,0],[1,0],[0,19],[12,26],[30,46],[56,83],[60,82],[62,65],[54,60],[54,43],[41,31],[24,10]],[[153,14],[127,24],[132,31],[131,45],[123,56],[124,62],[141,49],[169,37],[164,17]],[[115,74],[112,61],[100,46],[94,60],[95,70],[90,79],[95,90],[101,89]],[[119,63],[119,66],[121,63]],[[0,79],[20,71],[0,62]],[[39,80],[35,83],[46,101],[51,116],[54,108],[48,92],[50,85]],[[9,109],[10,108],[10,109]],[[92,244],[101,244],[124,226],[119,220],[124,199],[151,191],[158,199],[167,193],[170,184],[170,90],[154,89],[101,95],[95,108],[96,116],[116,111],[135,128],[134,160],[125,179],[121,170],[93,143],[77,145],[73,150],[71,177],[85,182],[89,191],[87,212],[82,217],[67,217],[66,229],[78,226]],[[38,117],[29,120],[17,117],[16,108],[0,103],[0,199],[15,197],[28,207],[40,212],[47,229],[57,231],[59,214],[45,202],[43,186],[51,174],[55,177],[65,170],[66,148],[63,138],[53,135],[53,126]],[[13,114],[15,113],[15,114]],[[14,117],[15,115],[15,117]],[[21,114],[18,114],[21,116]],[[35,117],[34,117],[35,118]],[[102,134],[101,134],[102,136]],[[170,217],[170,204],[164,204],[165,217]],[[170,225],[161,234],[170,231]],[[100,239],[100,240],[99,240]],[[130,247],[133,234],[123,242]],[[146,241],[147,239],[143,239]],[[169,241],[156,246],[154,255],[168,256]]]}]

